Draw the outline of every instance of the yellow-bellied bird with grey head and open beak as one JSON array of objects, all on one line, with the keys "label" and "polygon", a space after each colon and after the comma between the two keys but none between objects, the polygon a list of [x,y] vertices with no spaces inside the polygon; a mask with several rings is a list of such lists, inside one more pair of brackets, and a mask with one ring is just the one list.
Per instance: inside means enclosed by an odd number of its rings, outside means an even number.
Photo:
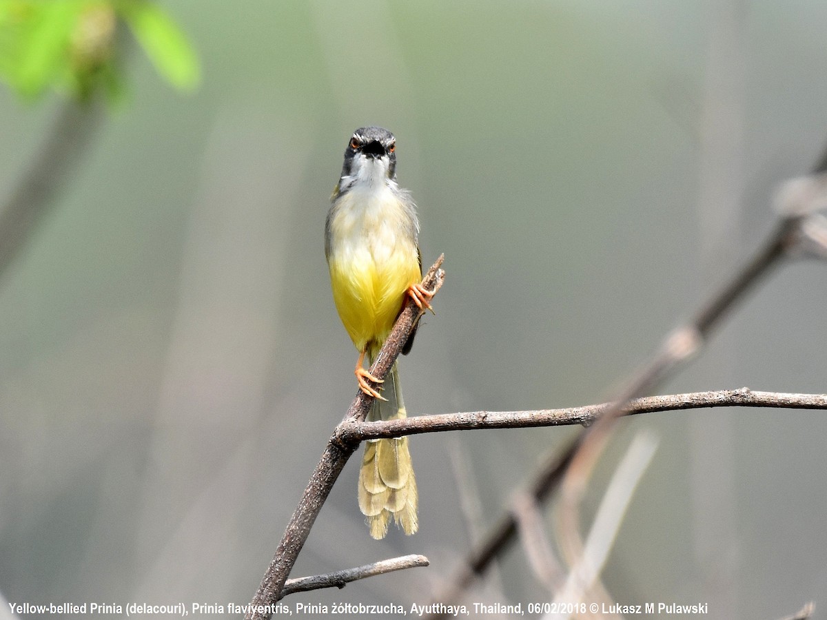
[{"label": "yellow-bellied bird with grey head and open beak", "polygon": [[[419,221],[408,190],[396,182],[396,138],[378,126],[360,127],[345,149],[339,182],[327,212],[324,252],[333,301],[356,350],[356,383],[373,398],[367,421],[407,417],[397,362],[388,378],[363,367],[375,360],[396,317],[410,299],[433,308],[420,283]],[[402,348],[408,354],[416,327]],[[391,518],[405,534],[419,527],[418,491],[407,436],[366,441],[358,503],[370,536],[384,538]]]}]

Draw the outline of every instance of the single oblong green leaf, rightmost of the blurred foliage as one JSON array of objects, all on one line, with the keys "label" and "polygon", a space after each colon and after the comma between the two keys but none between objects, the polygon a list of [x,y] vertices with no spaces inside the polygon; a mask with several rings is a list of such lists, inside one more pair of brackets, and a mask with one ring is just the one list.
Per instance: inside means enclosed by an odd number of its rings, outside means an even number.
[{"label": "single oblong green leaf, rightmost of the blurred foliage", "polygon": [[127,0],[117,5],[155,69],[174,87],[198,86],[201,69],[187,37],[155,2]]}]

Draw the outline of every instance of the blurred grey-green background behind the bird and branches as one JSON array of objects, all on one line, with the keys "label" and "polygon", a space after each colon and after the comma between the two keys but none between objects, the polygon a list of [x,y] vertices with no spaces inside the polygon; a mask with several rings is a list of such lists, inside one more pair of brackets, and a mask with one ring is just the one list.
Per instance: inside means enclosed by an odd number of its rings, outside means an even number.
[{"label": "blurred grey-green background behind the bird and branches", "polygon": [[[815,0],[163,6],[200,88],[177,93],[131,54],[126,105],[0,280],[9,601],[251,599],[356,393],[323,254],[356,127],[394,132],[423,263],[446,255],[437,315],[400,366],[415,415],[609,398],[743,264],[777,184],[827,144]],[[2,193],[59,102],[0,92]],[[825,392],[824,308],[827,265],[777,269],[662,393]],[[609,557],[612,596],[718,618],[813,599],[827,618],[824,414],[624,420],[588,506],[643,427],[659,446]],[[427,603],[469,522],[494,522],[575,432],[414,437],[420,530],[384,541],[356,506],[354,458],[292,576],[431,565],[284,602]],[[470,595],[548,599],[519,546]]]}]

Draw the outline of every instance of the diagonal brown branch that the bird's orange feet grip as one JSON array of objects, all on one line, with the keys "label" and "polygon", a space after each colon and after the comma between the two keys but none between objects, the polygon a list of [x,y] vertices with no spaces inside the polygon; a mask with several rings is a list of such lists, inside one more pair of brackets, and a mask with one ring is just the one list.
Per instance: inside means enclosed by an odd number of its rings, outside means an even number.
[{"label": "diagonal brown branch that the bird's orange feet grip", "polygon": [[[445,280],[445,272],[440,269],[444,258],[445,255],[441,255],[431,269],[428,269],[428,273],[425,274],[422,280],[423,286],[432,290],[433,293],[437,293]],[[394,329],[390,332],[390,336],[382,346],[379,355],[376,356],[374,365],[370,367],[370,374],[378,379],[385,378],[385,374],[399,356],[399,352],[402,351],[402,347],[408,341],[410,332],[414,329],[422,314],[423,312],[414,303],[408,303],[404,307],[394,323]],[[351,421],[361,422],[364,420],[372,401],[373,398],[359,390],[339,427],[342,424],[351,423]],[[290,570],[293,569],[299,551],[304,546],[304,541],[307,541],[313,522],[316,521],[318,513],[322,510],[327,495],[330,494],[330,489],[333,488],[333,484],[339,474],[342,473],[345,463],[359,446],[359,441],[342,441],[339,427],[333,432],[330,441],[327,441],[327,447],[322,453],[322,458],[318,461],[316,469],[313,470],[313,475],[304,489],[299,505],[296,507],[293,516],[290,517],[284,536],[275,550],[275,556],[270,561],[270,566],[267,568],[264,578],[261,579],[261,585],[252,599],[250,611],[245,617],[247,620],[260,620],[272,616],[273,605],[284,596],[282,592],[284,582]]]}]

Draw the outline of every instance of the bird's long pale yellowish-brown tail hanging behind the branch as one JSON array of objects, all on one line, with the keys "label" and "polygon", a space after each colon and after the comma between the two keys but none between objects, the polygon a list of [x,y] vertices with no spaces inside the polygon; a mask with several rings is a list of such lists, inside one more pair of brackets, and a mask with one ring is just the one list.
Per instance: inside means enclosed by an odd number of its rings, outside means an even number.
[{"label": "bird's long pale yellowish-brown tail hanging behind the branch", "polygon": [[[388,400],[375,399],[367,420],[407,417],[396,362],[382,385],[382,396]],[[406,534],[416,533],[419,527],[417,504],[408,437],[366,441],[359,471],[359,508],[370,527],[370,536],[376,540],[384,538],[390,517]]]}]

